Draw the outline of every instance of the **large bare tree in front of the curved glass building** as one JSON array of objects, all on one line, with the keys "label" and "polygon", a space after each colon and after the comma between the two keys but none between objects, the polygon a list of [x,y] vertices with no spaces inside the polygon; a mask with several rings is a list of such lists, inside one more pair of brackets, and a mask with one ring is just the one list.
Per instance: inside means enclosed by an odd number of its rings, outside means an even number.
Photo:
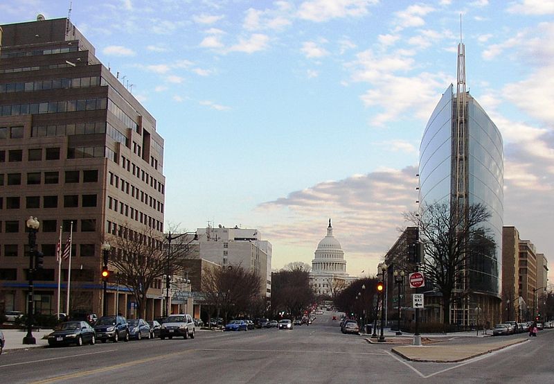
[{"label": "large bare tree in front of the curved glass building", "polygon": [[457,213],[446,202],[436,202],[404,216],[419,227],[425,248],[421,269],[425,279],[442,293],[443,322],[449,324],[453,290],[467,278],[464,268],[478,263],[483,254],[490,255],[496,247],[490,229],[484,226],[490,212],[483,204],[473,204]]}]

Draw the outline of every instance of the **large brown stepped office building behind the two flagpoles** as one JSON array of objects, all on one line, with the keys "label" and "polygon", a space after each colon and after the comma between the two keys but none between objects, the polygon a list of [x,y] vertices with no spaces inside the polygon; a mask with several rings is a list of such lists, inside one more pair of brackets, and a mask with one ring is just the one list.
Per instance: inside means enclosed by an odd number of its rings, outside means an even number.
[{"label": "large brown stepped office building behind the two flagpoles", "polygon": [[[73,222],[71,311],[101,313],[100,245],[128,225],[163,238],[163,139],[156,121],[95,57],[69,19],[1,26],[0,290],[6,309],[26,311],[26,219],[39,222],[44,270],[35,276],[35,311],[57,309],[56,244]],[[114,244],[112,244],[114,246]],[[118,250],[113,251],[114,254]],[[68,277],[62,263],[62,308]],[[116,281],[108,284],[114,313]],[[119,290],[118,308],[132,308]],[[161,281],[147,315],[161,313]]]}]

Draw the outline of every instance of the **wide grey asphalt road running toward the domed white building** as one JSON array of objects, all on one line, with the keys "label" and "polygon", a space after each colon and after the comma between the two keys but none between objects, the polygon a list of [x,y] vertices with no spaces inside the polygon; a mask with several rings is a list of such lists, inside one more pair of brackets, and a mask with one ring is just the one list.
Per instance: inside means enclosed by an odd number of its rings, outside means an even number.
[{"label": "wide grey asphalt road running toward the domed white building", "polygon": [[[519,335],[521,336],[521,335]],[[453,338],[445,342],[481,342]],[[412,363],[391,345],[343,335],[330,313],[292,331],[197,332],[194,340],[142,340],[37,348],[0,356],[4,383],[554,383],[554,330],[464,363]]]}]

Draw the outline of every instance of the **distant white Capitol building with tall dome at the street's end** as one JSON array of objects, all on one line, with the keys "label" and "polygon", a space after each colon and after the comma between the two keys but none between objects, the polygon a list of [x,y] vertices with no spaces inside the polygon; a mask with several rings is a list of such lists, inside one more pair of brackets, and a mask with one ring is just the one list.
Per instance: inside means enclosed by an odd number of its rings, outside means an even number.
[{"label": "distant white Capitol building with tall dome at the street's end", "polygon": [[341,243],[333,236],[331,219],[329,219],[327,234],[321,239],[314,252],[310,285],[316,295],[328,295],[334,298],[356,279],[357,277],[350,277],[346,273],[344,252]]}]

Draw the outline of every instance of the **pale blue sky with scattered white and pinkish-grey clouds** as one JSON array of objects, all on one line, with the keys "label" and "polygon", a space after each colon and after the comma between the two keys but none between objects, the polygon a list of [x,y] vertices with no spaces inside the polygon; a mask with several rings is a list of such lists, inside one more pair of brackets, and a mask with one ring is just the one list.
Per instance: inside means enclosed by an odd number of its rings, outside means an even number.
[{"label": "pale blue sky with scattered white and pinkish-grey clouds", "polygon": [[[416,208],[462,15],[467,87],[503,134],[504,224],[554,262],[553,0],[72,4],[166,139],[166,225],[258,228],[281,268],[310,263],[332,218],[355,275],[375,272]],[[0,24],[68,8],[4,0]]]}]

